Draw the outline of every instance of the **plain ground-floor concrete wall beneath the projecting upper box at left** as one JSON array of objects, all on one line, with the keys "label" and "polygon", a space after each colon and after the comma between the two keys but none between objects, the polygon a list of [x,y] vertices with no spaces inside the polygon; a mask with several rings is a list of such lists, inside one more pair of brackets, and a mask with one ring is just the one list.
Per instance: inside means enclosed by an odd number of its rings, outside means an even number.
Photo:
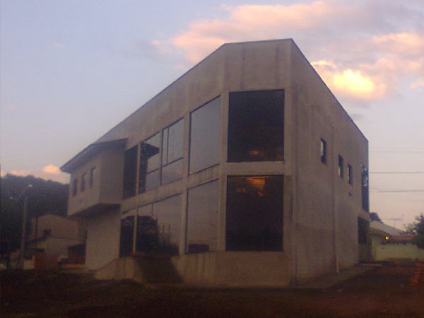
[{"label": "plain ground-floor concrete wall beneath the projecting upper box at left", "polygon": [[119,211],[108,211],[86,219],[86,267],[100,269],[119,257],[121,230]]}]

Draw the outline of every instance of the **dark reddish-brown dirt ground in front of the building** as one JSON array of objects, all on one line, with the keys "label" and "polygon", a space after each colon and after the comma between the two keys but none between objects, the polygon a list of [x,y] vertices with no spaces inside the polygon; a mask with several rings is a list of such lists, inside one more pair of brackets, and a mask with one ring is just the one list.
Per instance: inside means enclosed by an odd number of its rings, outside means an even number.
[{"label": "dark reddish-brown dirt ground in front of the building", "polygon": [[1,272],[3,317],[424,317],[412,266],[383,266],[324,290],[188,289]]}]

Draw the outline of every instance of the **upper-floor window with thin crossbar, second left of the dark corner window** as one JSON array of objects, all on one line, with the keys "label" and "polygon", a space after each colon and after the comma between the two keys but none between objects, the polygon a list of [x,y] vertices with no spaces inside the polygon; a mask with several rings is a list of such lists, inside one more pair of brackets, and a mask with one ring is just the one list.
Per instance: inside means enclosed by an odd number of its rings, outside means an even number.
[{"label": "upper-floor window with thin crossbar, second left of the dark corner window", "polygon": [[162,184],[182,177],[184,120],[163,129]]}]

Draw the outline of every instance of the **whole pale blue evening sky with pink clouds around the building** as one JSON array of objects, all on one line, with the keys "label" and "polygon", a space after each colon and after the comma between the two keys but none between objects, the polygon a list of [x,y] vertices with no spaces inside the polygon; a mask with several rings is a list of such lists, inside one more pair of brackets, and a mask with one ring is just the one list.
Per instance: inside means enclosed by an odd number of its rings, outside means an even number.
[{"label": "whole pale blue evening sky with pink clouds around the building", "polygon": [[61,165],[224,42],[288,37],[370,142],[371,211],[413,222],[422,0],[0,0],[1,175],[69,182]]}]

